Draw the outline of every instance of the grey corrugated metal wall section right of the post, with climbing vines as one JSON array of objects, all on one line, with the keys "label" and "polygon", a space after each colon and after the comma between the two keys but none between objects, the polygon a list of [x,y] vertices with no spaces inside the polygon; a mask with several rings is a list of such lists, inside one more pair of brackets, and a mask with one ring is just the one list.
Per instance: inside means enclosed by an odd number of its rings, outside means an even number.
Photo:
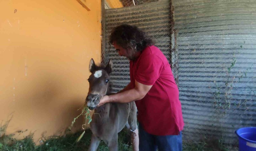
[{"label": "grey corrugated metal wall section right of the post, with climbing vines", "polygon": [[235,143],[256,126],[256,1],[175,0],[174,12],[183,134]]}]

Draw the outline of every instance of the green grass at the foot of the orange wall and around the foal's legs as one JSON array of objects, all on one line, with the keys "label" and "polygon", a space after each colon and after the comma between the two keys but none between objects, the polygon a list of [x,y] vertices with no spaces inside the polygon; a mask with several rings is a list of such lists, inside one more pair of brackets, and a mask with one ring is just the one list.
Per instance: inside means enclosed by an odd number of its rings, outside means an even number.
[{"label": "green grass at the foot of the orange wall and around the foal's legs", "polygon": [[[41,145],[36,146],[33,142],[33,137],[28,136],[22,140],[15,140],[11,136],[2,136],[0,138],[0,150],[1,151],[84,151],[87,150],[90,145],[90,139],[92,132],[86,130],[84,137],[76,143],[76,139],[82,132],[75,134],[68,134],[66,136],[55,136],[45,139],[41,142]],[[119,150],[131,151],[131,147],[128,145],[127,131],[123,130],[119,133]],[[101,141],[98,151],[108,151],[107,146]]]}]

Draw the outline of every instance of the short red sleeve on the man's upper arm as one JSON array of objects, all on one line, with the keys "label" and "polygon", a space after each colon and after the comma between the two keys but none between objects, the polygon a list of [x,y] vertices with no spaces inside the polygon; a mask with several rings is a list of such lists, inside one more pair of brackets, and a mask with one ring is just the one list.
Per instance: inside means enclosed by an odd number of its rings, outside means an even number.
[{"label": "short red sleeve on the man's upper arm", "polygon": [[154,54],[143,56],[139,60],[135,80],[141,84],[152,86],[159,78],[162,68],[163,62],[158,56]]}]

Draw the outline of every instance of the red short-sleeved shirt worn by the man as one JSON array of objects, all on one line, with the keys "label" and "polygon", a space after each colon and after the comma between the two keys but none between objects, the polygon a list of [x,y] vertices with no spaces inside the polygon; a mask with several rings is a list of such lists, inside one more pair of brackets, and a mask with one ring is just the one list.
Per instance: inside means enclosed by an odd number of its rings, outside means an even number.
[{"label": "red short-sleeved shirt worn by the man", "polygon": [[130,79],[132,88],[135,80],[153,85],[143,99],[135,101],[143,129],[152,135],[179,135],[184,127],[179,90],[161,50],[147,47],[130,61]]}]

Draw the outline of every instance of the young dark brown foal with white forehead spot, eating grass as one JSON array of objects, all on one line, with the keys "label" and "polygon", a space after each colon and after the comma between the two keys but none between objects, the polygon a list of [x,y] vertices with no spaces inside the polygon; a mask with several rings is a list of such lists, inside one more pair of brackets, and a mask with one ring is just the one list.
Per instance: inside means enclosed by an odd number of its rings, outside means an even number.
[{"label": "young dark brown foal with white forehead spot, eating grass", "polygon": [[130,103],[105,103],[97,107],[104,95],[109,95],[109,74],[113,68],[113,62],[109,60],[106,67],[96,66],[91,59],[89,64],[92,73],[88,79],[89,92],[86,97],[87,106],[94,110],[90,127],[92,130],[89,151],[96,151],[101,140],[103,140],[109,151],[118,151],[118,133],[125,127],[131,130],[131,143],[133,150],[138,151],[136,105]]}]

